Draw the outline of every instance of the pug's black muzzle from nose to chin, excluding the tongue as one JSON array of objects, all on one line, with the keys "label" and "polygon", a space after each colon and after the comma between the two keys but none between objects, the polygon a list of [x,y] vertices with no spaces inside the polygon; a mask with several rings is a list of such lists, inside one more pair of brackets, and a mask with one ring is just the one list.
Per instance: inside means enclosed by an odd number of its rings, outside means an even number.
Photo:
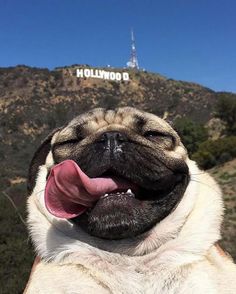
[{"label": "pug's black muzzle from nose to chin, excluding the tongue", "polygon": [[76,161],[90,177],[120,177],[136,191],[114,191],[71,221],[90,235],[105,239],[131,238],[169,215],[189,182],[184,160],[165,158],[120,132],[102,134]]}]

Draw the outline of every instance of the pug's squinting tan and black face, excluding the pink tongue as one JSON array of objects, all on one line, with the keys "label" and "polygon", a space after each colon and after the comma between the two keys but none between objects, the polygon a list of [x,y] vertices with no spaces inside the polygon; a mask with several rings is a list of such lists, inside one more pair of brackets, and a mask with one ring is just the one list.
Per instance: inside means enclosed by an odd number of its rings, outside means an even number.
[{"label": "pug's squinting tan and black face, excluding the pink tongue", "polygon": [[106,194],[70,219],[92,236],[122,239],[148,231],[175,209],[188,185],[187,155],[176,132],[164,120],[134,108],[94,109],[56,131],[48,142],[38,151],[43,157],[36,153],[32,161],[30,190],[49,152],[54,165],[71,159],[89,177],[130,183],[130,190]]}]

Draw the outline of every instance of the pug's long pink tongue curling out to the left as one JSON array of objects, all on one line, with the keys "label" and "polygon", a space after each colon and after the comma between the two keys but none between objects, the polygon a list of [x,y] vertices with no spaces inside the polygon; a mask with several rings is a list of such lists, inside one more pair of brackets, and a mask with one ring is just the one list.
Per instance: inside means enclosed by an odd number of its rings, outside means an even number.
[{"label": "pug's long pink tongue curling out to the left", "polygon": [[73,160],[65,160],[51,169],[45,204],[56,217],[72,218],[82,214],[105,193],[133,187],[134,184],[118,178],[89,178]]}]

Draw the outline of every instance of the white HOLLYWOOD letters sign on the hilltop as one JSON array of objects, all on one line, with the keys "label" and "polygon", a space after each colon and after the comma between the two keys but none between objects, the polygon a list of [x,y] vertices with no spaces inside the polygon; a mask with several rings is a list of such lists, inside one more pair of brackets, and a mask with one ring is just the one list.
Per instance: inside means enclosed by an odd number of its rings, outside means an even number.
[{"label": "white HOLLYWOOD letters sign on the hilltop", "polygon": [[127,72],[114,72],[93,68],[77,68],[76,76],[77,78],[95,78],[112,81],[129,81],[129,73]]}]

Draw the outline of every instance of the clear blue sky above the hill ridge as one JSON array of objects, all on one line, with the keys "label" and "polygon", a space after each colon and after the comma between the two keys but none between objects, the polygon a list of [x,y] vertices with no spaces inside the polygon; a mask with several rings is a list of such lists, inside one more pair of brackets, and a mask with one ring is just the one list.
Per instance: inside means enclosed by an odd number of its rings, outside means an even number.
[{"label": "clear blue sky above the hill ridge", "polygon": [[0,0],[0,67],[115,67],[236,92],[235,0]]}]

